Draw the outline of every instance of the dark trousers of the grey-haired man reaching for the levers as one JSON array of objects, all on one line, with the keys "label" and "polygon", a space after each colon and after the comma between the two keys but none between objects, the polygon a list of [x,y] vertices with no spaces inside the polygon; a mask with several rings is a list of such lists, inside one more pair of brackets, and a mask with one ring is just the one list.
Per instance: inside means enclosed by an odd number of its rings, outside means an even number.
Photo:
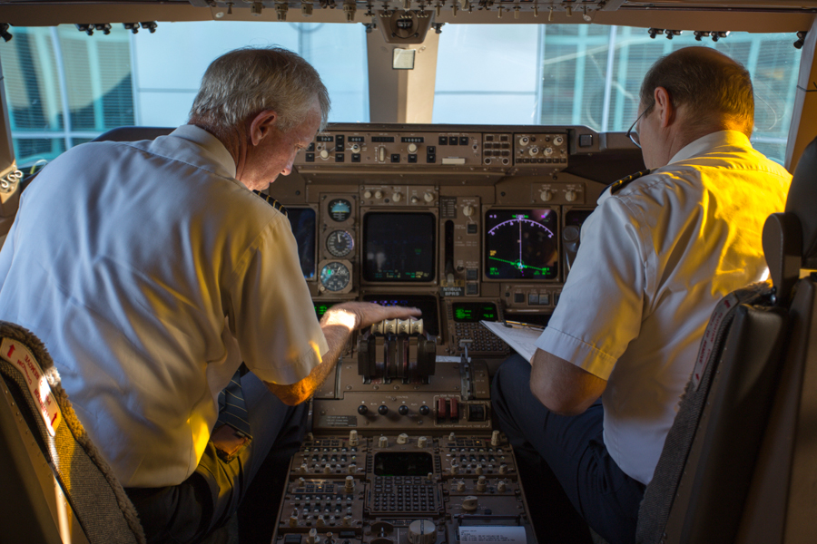
[{"label": "dark trousers of the grey-haired man reaching for the levers", "polygon": [[[199,542],[236,512],[241,523],[242,501],[257,510],[280,499],[280,485],[269,481],[276,474],[271,469],[289,467],[290,458],[299,450],[309,403],[281,403],[254,374],[241,378],[241,390],[252,441],[235,459],[222,461],[208,442],[196,471],[179,485],[125,490],[139,512],[148,542]],[[256,496],[248,500],[248,494]],[[271,509],[276,511],[267,514],[274,523],[277,509]],[[261,522],[257,513],[252,517],[254,523]],[[271,536],[270,530],[267,538]]]}]

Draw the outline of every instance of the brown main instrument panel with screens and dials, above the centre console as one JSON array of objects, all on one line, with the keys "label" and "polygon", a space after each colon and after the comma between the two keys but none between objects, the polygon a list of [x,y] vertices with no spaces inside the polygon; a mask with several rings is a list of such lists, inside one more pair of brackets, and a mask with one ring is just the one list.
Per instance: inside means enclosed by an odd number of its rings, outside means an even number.
[{"label": "brown main instrument panel with screens and dials, above the centre console", "polygon": [[418,306],[438,355],[471,340],[503,357],[479,321],[546,324],[598,195],[641,166],[624,135],[586,127],[336,124],[269,192],[319,316],[347,300]]}]

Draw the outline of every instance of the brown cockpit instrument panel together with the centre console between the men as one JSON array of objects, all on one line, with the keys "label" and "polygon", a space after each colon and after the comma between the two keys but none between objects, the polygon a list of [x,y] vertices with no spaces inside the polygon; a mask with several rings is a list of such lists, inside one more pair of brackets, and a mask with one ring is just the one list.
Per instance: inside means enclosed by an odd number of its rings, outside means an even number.
[{"label": "brown cockpit instrument panel together with the centre console between the men", "polygon": [[490,376],[512,352],[482,322],[546,325],[596,199],[641,165],[623,134],[586,127],[338,124],[316,137],[269,189],[316,315],[362,300],[422,320],[349,342],[312,400],[276,539],[536,542],[492,423]]}]

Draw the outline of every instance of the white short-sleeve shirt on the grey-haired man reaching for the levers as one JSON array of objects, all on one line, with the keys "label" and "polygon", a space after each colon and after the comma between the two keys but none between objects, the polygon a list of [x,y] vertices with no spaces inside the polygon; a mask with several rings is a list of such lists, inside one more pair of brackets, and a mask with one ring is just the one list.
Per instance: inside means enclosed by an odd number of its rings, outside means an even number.
[{"label": "white short-sleeve shirt on the grey-haired man reaching for the levers", "polygon": [[192,473],[241,361],[294,384],[328,349],[289,220],[192,125],[55,159],[25,189],[0,282],[0,316],[44,341],[126,487]]}]

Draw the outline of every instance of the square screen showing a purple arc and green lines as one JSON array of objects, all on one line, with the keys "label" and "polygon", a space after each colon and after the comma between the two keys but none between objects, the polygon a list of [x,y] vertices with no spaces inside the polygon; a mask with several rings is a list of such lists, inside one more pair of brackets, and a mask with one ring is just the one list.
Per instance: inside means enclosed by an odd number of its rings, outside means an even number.
[{"label": "square screen showing a purple arc and green lines", "polygon": [[489,209],[485,214],[488,279],[556,279],[558,218],[553,209]]}]

